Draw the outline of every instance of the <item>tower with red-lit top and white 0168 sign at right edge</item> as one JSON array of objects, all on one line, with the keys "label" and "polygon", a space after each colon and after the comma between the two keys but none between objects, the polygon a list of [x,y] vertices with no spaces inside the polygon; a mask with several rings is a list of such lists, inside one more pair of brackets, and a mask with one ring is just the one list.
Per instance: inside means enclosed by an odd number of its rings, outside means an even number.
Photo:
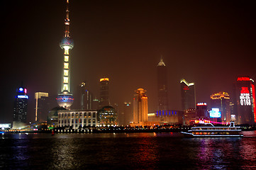
[{"label": "tower with red-lit top and white 0168 sign at right edge", "polygon": [[233,84],[233,99],[236,122],[256,123],[255,85],[250,77],[238,77]]}]

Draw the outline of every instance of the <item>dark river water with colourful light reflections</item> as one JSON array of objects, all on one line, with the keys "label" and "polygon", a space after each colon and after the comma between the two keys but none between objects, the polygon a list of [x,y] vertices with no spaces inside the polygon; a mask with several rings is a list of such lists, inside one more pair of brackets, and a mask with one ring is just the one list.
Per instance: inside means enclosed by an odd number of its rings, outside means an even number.
[{"label": "dark river water with colourful light reflections", "polygon": [[0,169],[256,169],[256,132],[0,134]]}]

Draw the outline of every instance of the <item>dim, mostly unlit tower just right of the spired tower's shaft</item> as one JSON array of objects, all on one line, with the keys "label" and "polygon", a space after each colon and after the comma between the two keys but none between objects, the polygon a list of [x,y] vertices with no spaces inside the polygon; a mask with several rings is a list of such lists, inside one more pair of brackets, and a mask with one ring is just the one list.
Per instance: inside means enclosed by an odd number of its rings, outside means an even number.
[{"label": "dim, mostly unlit tower just right of the spired tower's shaft", "polygon": [[85,82],[82,82],[77,86],[77,96],[76,96],[76,108],[82,110],[92,109],[92,94],[87,89]]}]

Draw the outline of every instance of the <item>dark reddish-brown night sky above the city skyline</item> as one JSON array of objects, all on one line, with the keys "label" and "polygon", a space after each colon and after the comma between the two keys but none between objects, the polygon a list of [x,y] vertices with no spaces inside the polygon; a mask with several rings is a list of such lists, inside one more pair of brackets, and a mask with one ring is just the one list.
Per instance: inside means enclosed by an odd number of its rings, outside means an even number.
[{"label": "dark reddish-brown night sky above the city skyline", "polygon": [[[81,81],[99,96],[99,79],[110,79],[111,103],[132,101],[147,90],[157,108],[156,65],[168,69],[169,106],[181,109],[180,79],[196,84],[196,101],[232,91],[238,75],[256,76],[255,1],[70,0],[72,91]],[[65,0],[1,2],[1,113],[11,122],[16,89],[60,92]],[[232,98],[232,96],[231,96]],[[57,105],[57,104],[56,104]]]}]

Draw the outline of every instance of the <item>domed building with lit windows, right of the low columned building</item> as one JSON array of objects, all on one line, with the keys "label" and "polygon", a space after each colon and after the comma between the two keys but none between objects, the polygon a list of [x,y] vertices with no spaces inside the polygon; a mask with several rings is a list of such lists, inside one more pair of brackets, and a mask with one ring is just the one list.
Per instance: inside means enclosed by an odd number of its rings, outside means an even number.
[{"label": "domed building with lit windows, right of the low columned building", "polygon": [[117,113],[112,106],[104,106],[99,110],[99,126],[116,126]]}]

